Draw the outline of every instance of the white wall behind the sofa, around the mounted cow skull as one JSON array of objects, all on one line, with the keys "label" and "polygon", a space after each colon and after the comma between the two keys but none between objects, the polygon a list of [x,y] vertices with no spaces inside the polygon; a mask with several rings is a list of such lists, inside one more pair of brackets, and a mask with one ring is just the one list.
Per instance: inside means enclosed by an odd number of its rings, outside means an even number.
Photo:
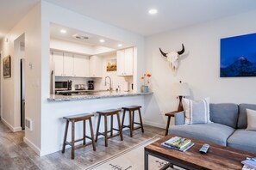
[{"label": "white wall behind the sofa, around the mounted cow skull", "polygon": [[[256,11],[218,21],[180,28],[147,38],[147,70],[153,75],[153,98],[148,100],[147,123],[165,127],[165,112],[174,111],[173,82],[188,82],[191,99],[209,96],[210,102],[256,103],[255,77],[220,77],[220,39],[256,32]],[[181,50],[178,73],[174,74],[159,47],[165,52]],[[173,123],[173,122],[172,122]]]}]

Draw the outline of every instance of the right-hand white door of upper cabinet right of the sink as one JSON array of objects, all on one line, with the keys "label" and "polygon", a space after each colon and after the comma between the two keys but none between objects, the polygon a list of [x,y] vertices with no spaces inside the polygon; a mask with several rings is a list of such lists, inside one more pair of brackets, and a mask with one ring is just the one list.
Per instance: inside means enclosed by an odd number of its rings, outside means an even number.
[{"label": "right-hand white door of upper cabinet right of the sink", "polygon": [[133,76],[134,75],[134,48],[125,49],[125,76]]}]

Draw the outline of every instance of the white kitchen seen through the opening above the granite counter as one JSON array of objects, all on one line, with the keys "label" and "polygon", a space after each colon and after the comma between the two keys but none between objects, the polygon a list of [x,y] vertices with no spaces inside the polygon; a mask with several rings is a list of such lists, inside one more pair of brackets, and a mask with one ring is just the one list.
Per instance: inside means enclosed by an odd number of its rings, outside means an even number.
[{"label": "white kitchen seen through the opening above the granite counter", "polygon": [[52,24],[50,51],[51,94],[133,91],[134,46]]}]

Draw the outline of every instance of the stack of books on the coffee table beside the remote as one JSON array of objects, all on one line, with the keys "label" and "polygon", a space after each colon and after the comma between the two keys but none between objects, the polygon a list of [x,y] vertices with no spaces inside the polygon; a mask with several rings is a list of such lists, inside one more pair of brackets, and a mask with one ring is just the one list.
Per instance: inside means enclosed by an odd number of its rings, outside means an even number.
[{"label": "stack of books on the coffee table beside the remote", "polygon": [[186,151],[190,149],[195,143],[191,143],[190,139],[184,137],[172,137],[168,141],[161,143],[162,146],[168,147],[170,149],[177,149],[179,151]]}]

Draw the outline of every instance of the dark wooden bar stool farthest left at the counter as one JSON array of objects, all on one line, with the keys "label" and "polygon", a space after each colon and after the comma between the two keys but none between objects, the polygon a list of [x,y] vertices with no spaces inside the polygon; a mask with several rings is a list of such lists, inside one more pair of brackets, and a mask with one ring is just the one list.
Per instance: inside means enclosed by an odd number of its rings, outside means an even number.
[{"label": "dark wooden bar stool farthest left at the counter", "polygon": [[[84,148],[85,146],[88,146],[90,144],[92,144],[93,150],[96,150],[95,147],[95,140],[94,140],[94,133],[93,133],[93,129],[92,129],[92,123],[91,123],[91,117],[93,117],[93,114],[90,113],[84,113],[84,114],[77,114],[77,115],[73,115],[73,116],[66,116],[63,117],[66,119],[66,130],[65,130],[65,135],[64,135],[64,141],[63,141],[63,148],[62,148],[62,153],[65,153],[65,149],[66,149],[66,144],[69,144],[72,146],[72,159],[75,158],[75,150],[76,149],[81,149]],[[85,127],[86,127],[86,120],[89,120],[90,123],[90,129],[91,129],[91,137],[86,136],[86,131],[85,131]],[[83,138],[75,140],[75,123],[78,121],[83,121]],[[67,142],[66,141],[66,136],[67,136],[67,131],[68,131],[68,124],[69,122],[72,122],[72,142]],[[85,143],[85,139],[91,139],[91,143]],[[75,148],[75,143],[78,143],[80,141],[83,141],[83,145],[78,146]]]}]

